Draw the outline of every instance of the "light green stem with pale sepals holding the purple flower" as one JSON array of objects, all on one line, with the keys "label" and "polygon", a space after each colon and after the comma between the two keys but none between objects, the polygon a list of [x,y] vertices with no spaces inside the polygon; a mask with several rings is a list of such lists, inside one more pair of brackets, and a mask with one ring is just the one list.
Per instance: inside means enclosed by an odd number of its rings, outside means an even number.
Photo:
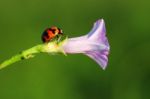
[{"label": "light green stem with pale sepals holding the purple flower", "polygon": [[18,53],[17,55],[11,57],[10,59],[2,62],[0,64],[0,69],[7,67],[17,61],[33,58],[36,53],[41,53],[41,52],[63,53],[64,55],[66,55],[61,47],[66,41],[67,41],[67,37],[64,40],[60,41],[59,43],[57,41],[53,41],[53,42],[49,42],[49,43],[39,44],[32,48],[24,50],[24,51]]}]

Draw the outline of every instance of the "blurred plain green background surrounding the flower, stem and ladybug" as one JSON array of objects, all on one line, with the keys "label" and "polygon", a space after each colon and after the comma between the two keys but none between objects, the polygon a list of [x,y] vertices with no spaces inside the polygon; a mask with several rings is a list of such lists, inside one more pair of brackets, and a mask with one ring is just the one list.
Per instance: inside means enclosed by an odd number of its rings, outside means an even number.
[{"label": "blurred plain green background surrounding the flower, stem and ladybug", "polygon": [[0,0],[0,62],[42,43],[47,27],[75,37],[100,18],[105,71],[81,54],[39,54],[0,70],[0,99],[150,99],[149,0]]}]

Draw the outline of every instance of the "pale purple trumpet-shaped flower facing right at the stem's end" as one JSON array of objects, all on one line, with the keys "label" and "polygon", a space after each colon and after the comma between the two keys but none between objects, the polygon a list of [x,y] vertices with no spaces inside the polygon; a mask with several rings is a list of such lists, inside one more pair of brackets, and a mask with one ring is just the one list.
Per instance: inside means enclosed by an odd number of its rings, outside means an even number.
[{"label": "pale purple trumpet-shaped flower facing right at the stem's end", "polygon": [[85,54],[105,69],[108,63],[110,46],[106,37],[104,20],[96,21],[87,35],[69,38],[62,48],[68,54]]}]

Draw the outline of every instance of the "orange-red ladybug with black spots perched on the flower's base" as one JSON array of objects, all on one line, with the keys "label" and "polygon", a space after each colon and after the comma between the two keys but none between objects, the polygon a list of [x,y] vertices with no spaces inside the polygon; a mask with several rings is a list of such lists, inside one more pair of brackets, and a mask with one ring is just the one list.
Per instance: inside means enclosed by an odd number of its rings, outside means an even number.
[{"label": "orange-red ladybug with black spots perched on the flower's base", "polygon": [[42,41],[43,43],[48,43],[49,41],[53,40],[54,38],[59,38],[59,35],[62,35],[63,32],[60,28],[56,26],[52,26],[47,28],[42,34]]}]

